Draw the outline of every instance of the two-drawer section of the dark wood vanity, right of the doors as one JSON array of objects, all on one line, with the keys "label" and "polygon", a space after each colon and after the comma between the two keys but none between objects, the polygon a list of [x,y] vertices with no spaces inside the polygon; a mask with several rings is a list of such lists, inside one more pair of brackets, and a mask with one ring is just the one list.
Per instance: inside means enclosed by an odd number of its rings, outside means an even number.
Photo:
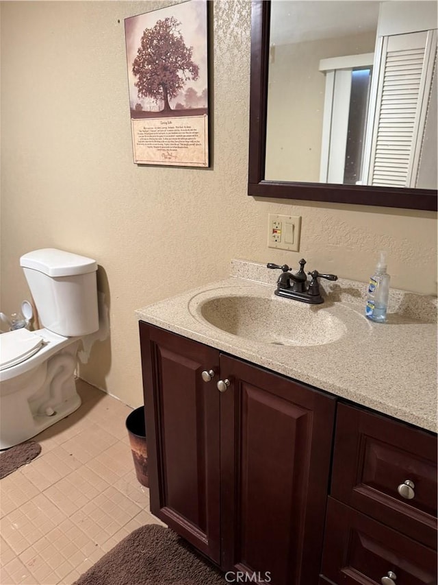
[{"label": "two-drawer section of the dark wood vanity, right of the doors", "polygon": [[437,585],[436,551],[436,436],[339,404],[324,577],[339,585],[381,585],[383,577],[386,585]]}]

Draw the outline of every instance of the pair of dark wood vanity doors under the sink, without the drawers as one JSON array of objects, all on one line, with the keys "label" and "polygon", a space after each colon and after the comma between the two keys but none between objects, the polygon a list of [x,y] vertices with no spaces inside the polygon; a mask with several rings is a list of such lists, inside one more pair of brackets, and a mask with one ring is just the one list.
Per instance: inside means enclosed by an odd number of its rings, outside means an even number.
[{"label": "pair of dark wood vanity doors under the sink, without the drawers", "polygon": [[224,571],[317,584],[335,400],[143,322],[140,340],[153,514]]}]

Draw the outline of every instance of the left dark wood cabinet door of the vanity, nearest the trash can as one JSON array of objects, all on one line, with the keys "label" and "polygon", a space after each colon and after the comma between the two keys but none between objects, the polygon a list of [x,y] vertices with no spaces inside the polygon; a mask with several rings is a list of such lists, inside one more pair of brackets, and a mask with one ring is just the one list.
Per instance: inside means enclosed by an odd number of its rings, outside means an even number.
[{"label": "left dark wood cabinet door of the vanity, nearest the trash can", "polygon": [[140,322],[151,512],[220,560],[219,353]]}]

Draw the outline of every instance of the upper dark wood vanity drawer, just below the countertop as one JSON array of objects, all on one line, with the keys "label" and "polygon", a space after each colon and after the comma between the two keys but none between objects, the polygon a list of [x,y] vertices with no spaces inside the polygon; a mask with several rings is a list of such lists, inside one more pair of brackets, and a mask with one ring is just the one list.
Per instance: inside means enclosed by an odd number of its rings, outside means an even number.
[{"label": "upper dark wood vanity drawer, just below the countertop", "polygon": [[436,549],[436,436],[338,405],[331,495]]}]

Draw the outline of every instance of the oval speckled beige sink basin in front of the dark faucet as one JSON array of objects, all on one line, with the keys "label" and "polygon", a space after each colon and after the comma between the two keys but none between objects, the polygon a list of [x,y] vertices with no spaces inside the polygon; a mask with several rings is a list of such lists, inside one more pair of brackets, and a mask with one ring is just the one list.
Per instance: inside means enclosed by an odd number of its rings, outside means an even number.
[{"label": "oval speckled beige sink basin in front of the dark faucet", "polygon": [[244,339],[284,346],[330,344],[345,335],[344,320],[324,305],[259,296],[217,296],[201,302],[198,318]]}]

